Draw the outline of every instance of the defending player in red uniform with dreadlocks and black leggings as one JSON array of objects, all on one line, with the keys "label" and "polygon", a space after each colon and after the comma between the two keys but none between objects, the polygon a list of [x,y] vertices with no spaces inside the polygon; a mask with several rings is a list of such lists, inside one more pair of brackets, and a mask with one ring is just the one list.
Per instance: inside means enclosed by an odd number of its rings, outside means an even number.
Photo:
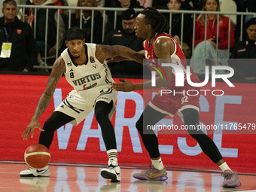
[{"label": "defending player in red uniform with dreadlocks and black leggings", "polygon": [[[179,44],[168,32],[169,25],[166,18],[163,17],[156,9],[146,8],[142,11],[138,17],[136,17],[135,32],[139,38],[145,38],[144,48],[145,50],[139,52],[145,54],[146,59],[175,59],[180,62],[175,62],[178,66],[181,66],[186,77],[186,63],[181,62],[185,59],[184,53],[181,50]],[[172,62],[173,63],[173,62]],[[182,67],[183,66],[183,67]],[[167,79],[163,81],[160,77],[156,78],[156,87],[167,87],[168,90],[175,90],[180,92],[181,90],[193,89],[196,87],[190,87],[187,81],[184,81],[184,87],[175,87],[175,75],[172,74],[172,68],[163,68],[166,72]],[[190,79],[194,83],[199,82],[197,75],[193,71],[190,71]],[[120,91],[132,91],[151,89],[151,81],[146,81],[140,84],[133,84],[130,81],[124,81],[122,84],[112,84],[112,88]],[[183,94],[177,94],[172,96],[166,94],[166,96],[160,96],[157,94],[151,102],[148,103],[142,116],[136,123],[136,128],[139,131],[142,142],[151,157],[152,166],[151,169],[145,172],[135,173],[134,178],[140,180],[166,180],[167,173],[163,166],[160,152],[158,148],[157,136],[154,131],[151,130],[151,134],[144,134],[143,130],[147,129],[147,125],[154,125],[159,120],[166,117],[169,114],[171,117],[175,113],[178,113],[181,117],[184,117],[184,124],[186,126],[194,125],[194,130],[187,130],[190,136],[197,140],[203,152],[221,168],[224,175],[223,187],[239,187],[241,185],[238,175],[232,172],[227,163],[225,163],[221,153],[218,151],[215,143],[209,138],[202,130],[197,128],[199,124],[199,96],[183,96]],[[147,130],[148,131],[148,130]]]}]

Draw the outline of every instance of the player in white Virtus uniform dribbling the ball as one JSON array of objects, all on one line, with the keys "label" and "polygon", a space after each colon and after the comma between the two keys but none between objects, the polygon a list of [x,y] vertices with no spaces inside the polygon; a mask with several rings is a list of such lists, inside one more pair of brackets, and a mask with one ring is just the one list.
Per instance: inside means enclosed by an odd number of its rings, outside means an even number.
[{"label": "player in white Virtus uniform dribbling the ball", "polygon": [[[135,57],[135,51],[123,46],[85,44],[84,35],[78,27],[67,30],[62,38],[62,47],[67,47],[53,64],[47,87],[32,117],[29,126],[23,133],[28,139],[34,135],[35,128],[41,131],[39,144],[50,148],[54,132],[66,123],[78,125],[91,111],[95,111],[96,120],[102,129],[102,138],[108,154],[108,168],[102,169],[103,178],[120,181],[120,167],[117,164],[117,145],[111,117],[115,111],[116,90],[111,89],[111,73],[106,59],[126,55]],[[139,56],[141,58],[141,56]],[[65,74],[66,80],[74,87],[69,95],[44,123],[41,128],[39,117],[50,103],[56,84]],[[43,169],[26,169],[20,172],[21,177],[50,176],[49,167]]]}]

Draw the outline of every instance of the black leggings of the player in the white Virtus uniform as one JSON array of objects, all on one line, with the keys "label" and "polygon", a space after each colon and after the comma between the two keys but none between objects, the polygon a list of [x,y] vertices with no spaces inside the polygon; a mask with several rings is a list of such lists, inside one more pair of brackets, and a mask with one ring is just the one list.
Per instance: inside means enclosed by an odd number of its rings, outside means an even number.
[{"label": "black leggings of the player in the white Virtus uniform", "polygon": [[[99,101],[96,102],[94,109],[96,120],[102,129],[102,138],[107,150],[117,148],[114,127],[108,118],[108,114],[112,107],[113,101],[110,103]],[[39,143],[50,148],[50,145],[53,142],[54,132],[58,130],[59,127],[71,122],[72,120],[74,120],[74,117],[70,117],[69,115],[63,114],[59,111],[54,111],[49,119],[44,123],[44,132],[41,132],[40,134]]]}]

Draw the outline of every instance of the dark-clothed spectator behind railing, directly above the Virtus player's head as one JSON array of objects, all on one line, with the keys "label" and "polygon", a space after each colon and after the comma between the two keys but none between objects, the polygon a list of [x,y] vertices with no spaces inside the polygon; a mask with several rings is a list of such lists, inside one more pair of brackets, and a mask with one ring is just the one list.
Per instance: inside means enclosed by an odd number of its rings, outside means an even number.
[{"label": "dark-clothed spectator behind railing, directly above the Virtus player's head", "polygon": [[[78,0],[77,7],[96,7],[96,0]],[[64,11],[65,12],[65,11]],[[69,29],[69,12],[62,14],[65,29]],[[71,16],[71,26],[80,26],[84,32],[84,38],[87,43],[90,43],[91,37],[91,25],[92,25],[92,11],[83,10],[81,16],[81,10],[76,10]],[[93,23],[93,43],[99,44],[102,42],[102,23],[103,17],[99,11],[94,11],[94,23]]]}]

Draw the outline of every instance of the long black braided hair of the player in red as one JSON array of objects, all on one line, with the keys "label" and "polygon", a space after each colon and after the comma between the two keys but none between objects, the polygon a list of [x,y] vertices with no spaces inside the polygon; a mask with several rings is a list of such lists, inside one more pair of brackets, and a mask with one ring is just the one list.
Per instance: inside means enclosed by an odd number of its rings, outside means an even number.
[{"label": "long black braided hair of the player in red", "polygon": [[166,17],[164,17],[163,14],[160,14],[159,11],[154,8],[145,8],[141,14],[145,15],[145,24],[152,26],[153,32],[151,38],[157,33],[169,33],[168,20],[166,20]]}]

